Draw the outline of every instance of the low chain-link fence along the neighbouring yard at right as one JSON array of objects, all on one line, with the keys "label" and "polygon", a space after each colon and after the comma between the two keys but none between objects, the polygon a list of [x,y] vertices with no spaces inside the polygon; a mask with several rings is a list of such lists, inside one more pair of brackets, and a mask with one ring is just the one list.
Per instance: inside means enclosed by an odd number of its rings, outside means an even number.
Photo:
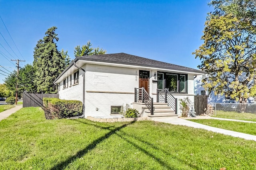
[{"label": "low chain-link fence along the neighbouring yard at right", "polygon": [[206,114],[228,119],[255,119],[256,104],[208,103]]}]

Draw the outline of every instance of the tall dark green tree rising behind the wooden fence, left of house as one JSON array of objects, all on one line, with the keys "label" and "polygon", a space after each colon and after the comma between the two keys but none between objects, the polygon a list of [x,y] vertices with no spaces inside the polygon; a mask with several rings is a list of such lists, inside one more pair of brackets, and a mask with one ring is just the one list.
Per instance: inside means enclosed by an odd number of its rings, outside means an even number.
[{"label": "tall dark green tree rising behind the wooden fence, left of house", "polygon": [[65,69],[68,55],[57,49],[56,42],[59,40],[55,33],[57,27],[50,27],[43,39],[40,39],[34,48],[33,66],[36,70],[35,84],[38,93],[56,93],[58,87],[54,80]]}]

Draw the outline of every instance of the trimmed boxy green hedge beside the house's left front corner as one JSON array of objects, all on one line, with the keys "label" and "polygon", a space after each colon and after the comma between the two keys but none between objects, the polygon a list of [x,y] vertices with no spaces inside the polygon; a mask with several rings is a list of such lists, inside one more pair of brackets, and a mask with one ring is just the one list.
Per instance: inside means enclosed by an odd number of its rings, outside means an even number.
[{"label": "trimmed boxy green hedge beside the house's left front corner", "polygon": [[67,118],[82,115],[83,104],[78,100],[61,100],[58,98],[43,98],[44,107],[56,118]]}]

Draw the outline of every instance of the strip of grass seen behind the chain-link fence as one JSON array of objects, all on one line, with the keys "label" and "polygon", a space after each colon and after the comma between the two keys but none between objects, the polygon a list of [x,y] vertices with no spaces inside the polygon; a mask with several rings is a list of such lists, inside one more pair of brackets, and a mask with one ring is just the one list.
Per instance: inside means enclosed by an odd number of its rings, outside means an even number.
[{"label": "strip of grass seen behind the chain-link fence", "polygon": [[220,117],[220,118],[227,118],[227,119],[237,119],[237,120],[246,120],[246,121],[256,121],[256,115],[253,113],[237,113],[235,111],[216,111],[216,116],[213,117]]}]

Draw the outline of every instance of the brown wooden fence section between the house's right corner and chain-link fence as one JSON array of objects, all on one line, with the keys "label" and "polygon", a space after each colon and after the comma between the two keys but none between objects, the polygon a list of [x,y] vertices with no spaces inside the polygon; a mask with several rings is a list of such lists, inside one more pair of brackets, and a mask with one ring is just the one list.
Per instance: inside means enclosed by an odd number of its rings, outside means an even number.
[{"label": "brown wooden fence section between the house's right corner and chain-link fence", "polygon": [[194,96],[194,107],[196,115],[206,113],[207,109],[207,96],[206,95],[197,95]]}]

